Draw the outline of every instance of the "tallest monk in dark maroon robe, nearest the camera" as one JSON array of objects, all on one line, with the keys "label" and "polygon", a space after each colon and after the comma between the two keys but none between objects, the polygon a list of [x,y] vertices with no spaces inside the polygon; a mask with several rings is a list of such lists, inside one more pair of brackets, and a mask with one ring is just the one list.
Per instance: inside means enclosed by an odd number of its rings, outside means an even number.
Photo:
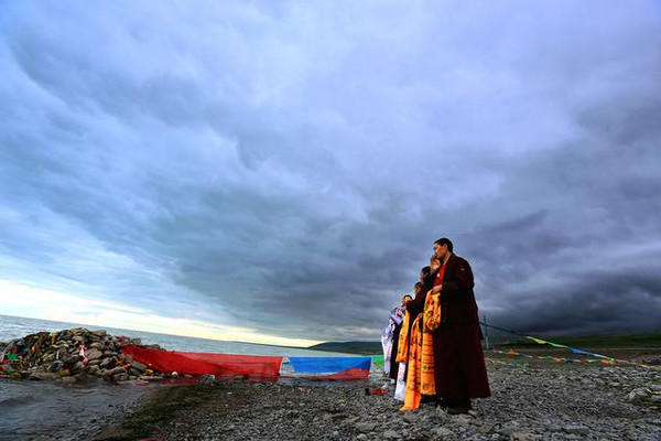
[{"label": "tallest monk in dark maroon robe, nearest the camera", "polygon": [[466,413],[470,398],[491,395],[480,342],[473,271],[466,259],[453,254],[447,238],[434,243],[442,267],[432,292],[441,293],[441,324],[434,332],[436,397],[448,413]]}]

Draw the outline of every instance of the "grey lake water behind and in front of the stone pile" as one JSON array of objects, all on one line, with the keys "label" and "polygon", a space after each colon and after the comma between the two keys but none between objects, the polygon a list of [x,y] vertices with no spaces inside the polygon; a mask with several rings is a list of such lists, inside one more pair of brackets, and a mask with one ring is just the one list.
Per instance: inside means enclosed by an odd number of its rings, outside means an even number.
[{"label": "grey lake water behind and in front of the stone pile", "polygon": [[[72,327],[104,329],[112,335],[141,338],[164,349],[275,356],[350,356],[303,348],[193,338],[151,332],[90,326],[0,315],[0,342],[40,331]],[[288,364],[283,364],[283,370]],[[57,381],[8,380],[0,378],[0,440],[80,440],[107,422],[112,412],[122,413],[159,385],[113,385],[107,381],[63,385]]]}]

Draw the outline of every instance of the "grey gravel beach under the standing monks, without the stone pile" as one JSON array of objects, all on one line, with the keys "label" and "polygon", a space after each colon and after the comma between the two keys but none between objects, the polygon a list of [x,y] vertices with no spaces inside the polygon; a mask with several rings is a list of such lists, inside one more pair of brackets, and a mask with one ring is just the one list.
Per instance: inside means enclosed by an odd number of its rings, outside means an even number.
[{"label": "grey gravel beach under the standing monks, without the stone pile", "polygon": [[431,405],[400,412],[392,389],[365,395],[383,380],[170,387],[96,439],[661,440],[659,370],[489,364],[489,379],[492,397],[463,416]]}]

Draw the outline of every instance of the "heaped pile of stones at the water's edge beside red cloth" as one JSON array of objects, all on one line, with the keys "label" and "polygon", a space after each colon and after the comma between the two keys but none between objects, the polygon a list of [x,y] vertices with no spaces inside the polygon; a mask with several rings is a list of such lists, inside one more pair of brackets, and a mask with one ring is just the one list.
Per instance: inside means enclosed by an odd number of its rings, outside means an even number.
[{"label": "heaped pile of stones at the water's edge beside red cloth", "polygon": [[164,377],[131,355],[123,355],[121,349],[128,345],[160,348],[159,345],[142,345],[140,338],[108,335],[102,330],[76,327],[56,333],[40,332],[0,343],[0,355],[4,353],[0,374],[17,379],[63,381],[86,377],[112,381],[160,380]]}]

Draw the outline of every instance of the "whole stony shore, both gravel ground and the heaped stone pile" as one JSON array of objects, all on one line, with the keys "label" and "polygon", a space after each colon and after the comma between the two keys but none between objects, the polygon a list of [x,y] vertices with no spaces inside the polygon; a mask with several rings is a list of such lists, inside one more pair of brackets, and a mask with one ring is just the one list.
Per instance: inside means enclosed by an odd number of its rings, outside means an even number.
[{"label": "whole stony shore, both gravel ground and the heaped stone pile", "polygon": [[[85,329],[0,345],[1,376],[80,385],[151,384],[139,401],[106,411],[75,433],[35,439],[134,440],[661,440],[661,373],[631,365],[491,363],[492,397],[469,415],[424,405],[400,412],[389,380],[182,386],[121,354],[140,341]],[[158,346],[145,346],[158,347]],[[9,361],[9,363],[7,363]],[[6,380],[7,381],[7,380]],[[25,383],[28,384],[28,383]],[[31,384],[31,381],[30,381]],[[121,387],[121,386],[119,386]],[[366,395],[365,389],[384,390]],[[83,418],[83,417],[82,417]],[[17,438],[23,439],[23,438]],[[33,439],[25,437],[24,439]]]}]

